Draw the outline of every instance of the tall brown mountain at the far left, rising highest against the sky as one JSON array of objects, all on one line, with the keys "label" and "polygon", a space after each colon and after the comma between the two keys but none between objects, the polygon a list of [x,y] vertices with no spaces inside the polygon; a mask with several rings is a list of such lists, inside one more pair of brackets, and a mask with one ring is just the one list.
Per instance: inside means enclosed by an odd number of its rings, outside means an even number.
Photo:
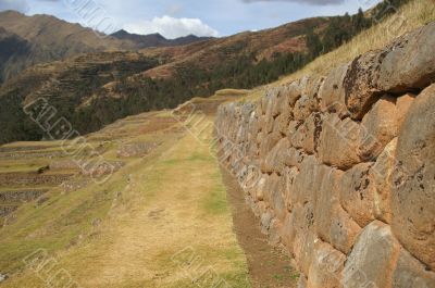
[{"label": "tall brown mountain at the far left, rising highest against the sky", "polygon": [[90,28],[49,15],[26,16],[16,11],[0,13],[0,80],[26,67],[63,60],[80,53],[135,48],[113,37],[101,37]]}]

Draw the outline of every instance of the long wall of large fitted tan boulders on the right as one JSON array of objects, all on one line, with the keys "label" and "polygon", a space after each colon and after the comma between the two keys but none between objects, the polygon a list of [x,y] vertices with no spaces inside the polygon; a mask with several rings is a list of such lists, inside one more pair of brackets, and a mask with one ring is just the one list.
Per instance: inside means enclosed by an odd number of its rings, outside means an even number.
[{"label": "long wall of large fitted tan boulders on the right", "polygon": [[221,105],[225,165],[300,287],[435,287],[435,23]]}]

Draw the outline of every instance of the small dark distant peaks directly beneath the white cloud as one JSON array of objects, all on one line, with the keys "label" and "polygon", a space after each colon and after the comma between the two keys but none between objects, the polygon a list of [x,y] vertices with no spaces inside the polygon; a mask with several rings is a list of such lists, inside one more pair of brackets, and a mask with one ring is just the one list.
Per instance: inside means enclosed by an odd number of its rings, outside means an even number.
[{"label": "small dark distant peaks directly beneath the white cloud", "polygon": [[198,41],[210,40],[211,37],[198,37],[195,35],[188,35],[176,39],[166,39],[160,34],[138,35],[130,34],[124,29],[121,29],[111,35],[112,37],[120,40],[129,40],[136,45],[137,48],[150,48],[150,47],[170,47],[189,45]]}]

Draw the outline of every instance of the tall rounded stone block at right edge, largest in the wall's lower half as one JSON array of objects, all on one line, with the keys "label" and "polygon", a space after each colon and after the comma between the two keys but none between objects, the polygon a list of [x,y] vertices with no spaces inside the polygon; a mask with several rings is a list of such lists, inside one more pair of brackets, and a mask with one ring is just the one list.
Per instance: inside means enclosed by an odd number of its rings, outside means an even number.
[{"label": "tall rounded stone block at right edge, largest in the wall's lower half", "polygon": [[435,270],[435,85],[417,97],[401,127],[391,204],[395,235]]}]

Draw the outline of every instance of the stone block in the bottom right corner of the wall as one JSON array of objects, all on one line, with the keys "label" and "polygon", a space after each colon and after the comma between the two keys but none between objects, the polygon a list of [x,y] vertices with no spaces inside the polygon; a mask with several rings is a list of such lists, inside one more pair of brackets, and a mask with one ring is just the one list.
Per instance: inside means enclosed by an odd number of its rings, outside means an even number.
[{"label": "stone block in the bottom right corner of the wall", "polygon": [[435,273],[414,259],[407,250],[401,249],[397,265],[393,272],[394,288],[431,288],[435,287]]}]

